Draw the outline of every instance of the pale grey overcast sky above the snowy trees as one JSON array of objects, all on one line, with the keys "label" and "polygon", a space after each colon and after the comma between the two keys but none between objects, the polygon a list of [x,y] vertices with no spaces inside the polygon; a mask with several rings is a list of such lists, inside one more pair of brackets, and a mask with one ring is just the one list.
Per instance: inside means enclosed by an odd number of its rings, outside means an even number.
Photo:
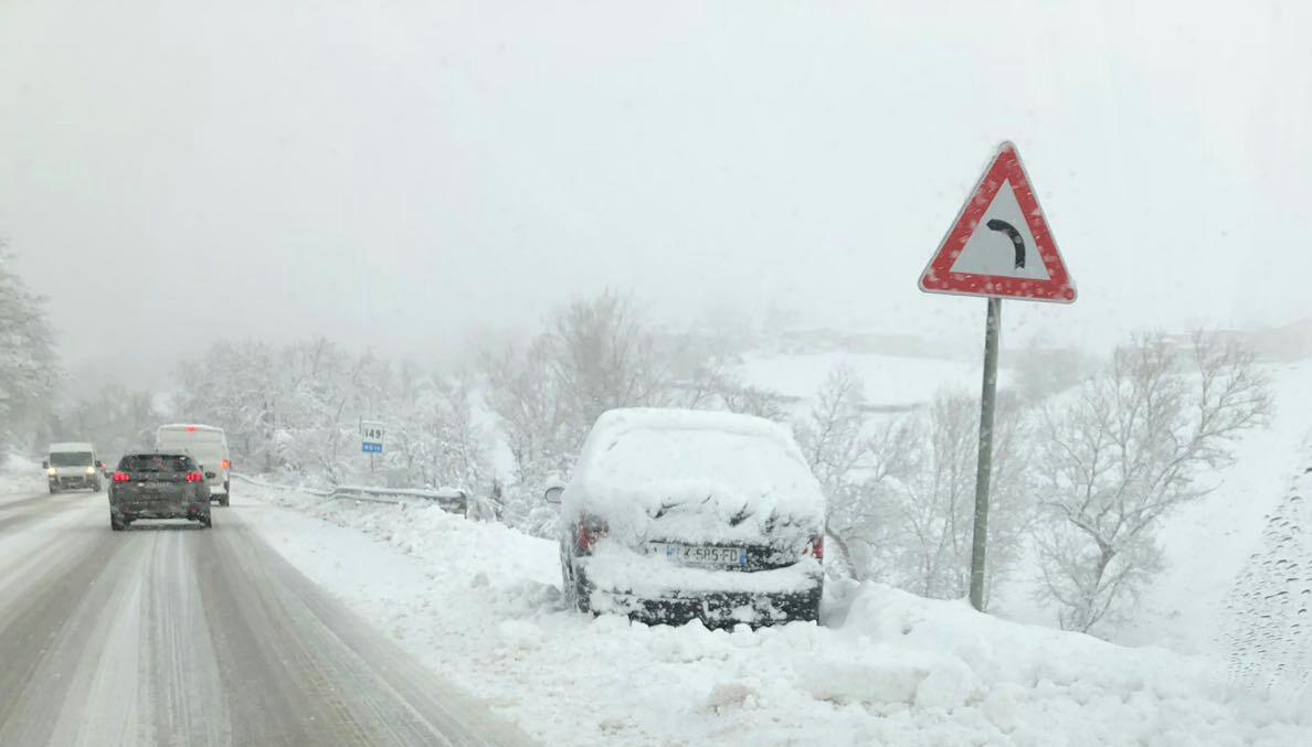
[{"label": "pale grey overcast sky above the snowy trees", "polygon": [[72,368],[224,335],[437,356],[604,287],[975,341],[984,301],[916,279],[1010,139],[1080,300],[1008,304],[1008,334],[1284,322],[1312,313],[1309,28],[1307,3],[3,0],[0,236]]}]

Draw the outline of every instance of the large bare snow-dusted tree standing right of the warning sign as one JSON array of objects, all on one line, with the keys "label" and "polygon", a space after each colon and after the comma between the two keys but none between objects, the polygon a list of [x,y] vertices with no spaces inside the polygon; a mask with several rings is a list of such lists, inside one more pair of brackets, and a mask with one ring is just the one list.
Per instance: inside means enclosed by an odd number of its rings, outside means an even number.
[{"label": "large bare snow-dusted tree standing right of the warning sign", "polygon": [[1043,409],[1036,524],[1040,596],[1063,628],[1123,616],[1162,565],[1161,522],[1206,495],[1202,473],[1271,408],[1253,353],[1195,334],[1135,337],[1105,371]]}]

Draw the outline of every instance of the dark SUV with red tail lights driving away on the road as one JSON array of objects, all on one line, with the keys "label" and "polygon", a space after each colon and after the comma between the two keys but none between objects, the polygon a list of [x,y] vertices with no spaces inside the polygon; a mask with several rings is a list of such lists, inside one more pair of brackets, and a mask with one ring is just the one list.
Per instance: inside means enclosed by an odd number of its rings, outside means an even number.
[{"label": "dark SUV with red tail lights driving away on the road", "polygon": [[129,453],[109,484],[109,526],[138,519],[190,519],[210,528],[210,488],[201,465],[180,451]]}]

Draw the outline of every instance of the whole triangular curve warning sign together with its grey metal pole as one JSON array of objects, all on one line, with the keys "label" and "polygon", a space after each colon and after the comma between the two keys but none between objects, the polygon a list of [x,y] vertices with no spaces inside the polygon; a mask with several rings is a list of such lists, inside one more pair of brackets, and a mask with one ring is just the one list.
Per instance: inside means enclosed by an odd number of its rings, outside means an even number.
[{"label": "whole triangular curve warning sign together with its grey metal pole", "polygon": [[1002,299],[1069,304],[1076,297],[1075,283],[1057,252],[1015,145],[1002,143],[998,147],[953,228],[938,245],[938,252],[921,273],[920,290],[988,299],[971,537],[971,605],[983,611]]}]

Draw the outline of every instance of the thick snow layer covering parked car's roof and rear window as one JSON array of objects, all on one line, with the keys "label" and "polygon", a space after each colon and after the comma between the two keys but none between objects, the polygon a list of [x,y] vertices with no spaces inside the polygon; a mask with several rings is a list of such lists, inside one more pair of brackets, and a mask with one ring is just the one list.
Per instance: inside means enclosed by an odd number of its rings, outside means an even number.
[{"label": "thick snow layer covering parked car's roof and rear window", "polygon": [[[778,423],[701,410],[625,409],[601,415],[562,497],[562,516],[604,516],[635,544],[664,537],[740,541],[771,527],[824,524],[824,495]],[[803,536],[806,539],[806,536]]]}]

